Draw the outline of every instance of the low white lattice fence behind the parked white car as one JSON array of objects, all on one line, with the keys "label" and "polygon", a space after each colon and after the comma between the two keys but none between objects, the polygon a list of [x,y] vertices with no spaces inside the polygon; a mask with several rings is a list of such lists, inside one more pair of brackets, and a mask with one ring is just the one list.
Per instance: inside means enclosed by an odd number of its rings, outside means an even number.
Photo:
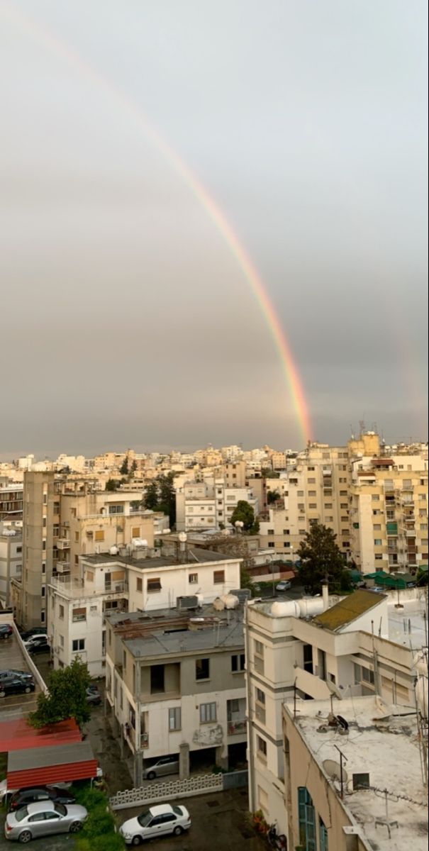
[{"label": "low white lattice fence behind the parked white car", "polygon": [[222,774],[196,774],[187,780],[170,780],[167,783],[146,783],[138,789],[126,789],[111,797],[112,809],[140,807],[143,804],[171,801],[172,798],[204,795],[223,790]]}]

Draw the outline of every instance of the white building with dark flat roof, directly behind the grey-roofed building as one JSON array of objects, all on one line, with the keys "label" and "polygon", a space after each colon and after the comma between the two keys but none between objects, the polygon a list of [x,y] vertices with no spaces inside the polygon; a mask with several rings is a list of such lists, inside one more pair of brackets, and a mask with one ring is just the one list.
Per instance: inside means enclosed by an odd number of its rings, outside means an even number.
[{"label": "white building with dark flat roof, directly behind the grey-roofed building", "polygon": [[190,547],[177,557],[134,546],[116,556],[87,555],[79,574],[58,575],[48,587],[48,630],[54,669],[78,655],[92,677],[106,667],[105,620],[112,612],[175,610],[182,601],[200,608],[240,587],[240,559]]}]

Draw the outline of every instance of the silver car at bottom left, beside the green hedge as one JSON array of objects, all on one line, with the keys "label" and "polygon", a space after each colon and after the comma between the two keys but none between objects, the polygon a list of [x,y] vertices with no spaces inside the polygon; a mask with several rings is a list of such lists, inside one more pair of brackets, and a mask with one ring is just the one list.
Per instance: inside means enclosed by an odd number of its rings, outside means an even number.
[{"label": "silver car at bottom left, beside the green hedge", "polygon": [[31,839],[48,837],[53,833],[77,833],[87,818],[87,810],[77,803],[29,803],[14,813],[8,813],[4,836],[18,842],[31,842]]}]

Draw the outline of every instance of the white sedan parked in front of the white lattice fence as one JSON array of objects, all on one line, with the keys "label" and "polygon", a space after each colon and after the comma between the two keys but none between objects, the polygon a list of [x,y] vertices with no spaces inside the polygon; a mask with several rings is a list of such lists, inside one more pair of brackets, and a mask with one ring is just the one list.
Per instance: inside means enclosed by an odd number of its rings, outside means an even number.
[{"label": "white sedan parked in front of the white lattice fence", "polygon": [[178,837],[190,827],[191,817],[186,807],[161,803],[146,809],[135,819],[124,821],[119,833],[127,845],[140,845],[145,839],[166,837],[170,833]]}]

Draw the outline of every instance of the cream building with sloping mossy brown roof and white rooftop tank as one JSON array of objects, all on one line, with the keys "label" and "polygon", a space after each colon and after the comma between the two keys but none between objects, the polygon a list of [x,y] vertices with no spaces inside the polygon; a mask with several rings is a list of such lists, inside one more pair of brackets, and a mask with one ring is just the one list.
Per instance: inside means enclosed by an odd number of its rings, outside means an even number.
[{"label": "cream building with sloping mossy brown roof and white rooftop tank", "polygon": [[[331,711],[344,715],[343,697],[376,694],[413,709],[412,638],[417,647],[424,642],[426,600],[416,597],[402,609],[394,602],[387,595],[356,591],[331,605],[325,587],[323,598],[247,605],[249,809],[261,809],[281,833],[288,832],[284,702],[292,701],[301,714],[309,699],[332,700]],[[408,622],[413,622],[413,635],[405,631]]]}]

